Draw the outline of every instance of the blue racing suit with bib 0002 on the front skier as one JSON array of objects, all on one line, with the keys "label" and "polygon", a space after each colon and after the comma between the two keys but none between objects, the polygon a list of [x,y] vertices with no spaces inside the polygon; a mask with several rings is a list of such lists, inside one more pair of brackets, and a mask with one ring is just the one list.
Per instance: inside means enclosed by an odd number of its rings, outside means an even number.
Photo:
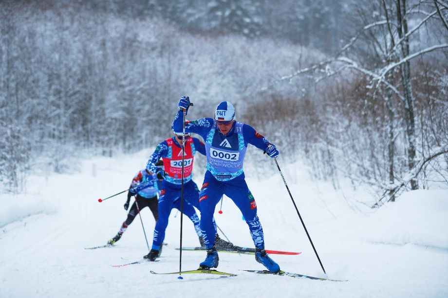
[{"label": "blue racing suit with bib 0002 on the front skier", "polygon": [[[183,112],[174,118],[172,128],[183,127]],[[222,134],[216,121],[202,118],[185,124],[187,133],[196,133],[205,140],[207,171],[199,193],[201,231],[205,247],[215,244],[212,217],[222,195],[228,196],[243,213],[249,231],[257,248],[264,248],[263,229],[257,216],[257,204],[244,179],[243,161],[248,144],[266,151],[269,141],[248,124],[234,122],[231,130]]]}]

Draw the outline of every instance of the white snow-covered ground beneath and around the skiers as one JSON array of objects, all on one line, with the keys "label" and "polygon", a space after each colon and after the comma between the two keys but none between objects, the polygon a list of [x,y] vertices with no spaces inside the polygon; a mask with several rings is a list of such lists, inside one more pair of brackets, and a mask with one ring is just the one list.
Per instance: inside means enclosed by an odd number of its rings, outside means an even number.
[{"label": "white snow-covered ground beneath and around the skiers", "polygon": [[[448,191],[405,193],[394,204],[371,210],[362,202],[368,193],[349,187],[335,191],[313,181],[301,164],[287,165],[285,179],[298,205],[320,260],[332,282],[259,275],[240,269],[264,269],[252,255],[220,253],[218,269],[238,274],[153,275],[179,270],[180,216],[170,215],[160,262],[125,267],[148,253],[137,217],[112,248],[105,244],[126,219],[126,194],[133,175],[145,166],[151,149],[132,156],[92,158],[71,175],[32,176],[27,191],[0,195],[0,297],[448,297]],[[268,249],[301,251],[271,255],[285,271],[325,277],[299,216],[273,162],[272,175],[257,180],[246,172],[254,194]],[[202,176],[194,180],[201,185]],[[224,197],[215,218],[236,245],[253,246],[235,205]],[[149,245],[154,219],[142,211]],[[198,245],[184,217],[183,245]],[[222,238],[225,238],[221,234]],[[183,251],[182,270],[195,269],[204,252]]]}]

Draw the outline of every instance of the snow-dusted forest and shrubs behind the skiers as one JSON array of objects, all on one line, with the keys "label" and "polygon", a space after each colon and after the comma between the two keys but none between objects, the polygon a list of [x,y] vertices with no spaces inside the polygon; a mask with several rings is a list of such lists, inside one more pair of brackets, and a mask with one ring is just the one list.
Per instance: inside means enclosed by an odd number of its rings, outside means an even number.
[{"label": "snow-dusted forest and shrubs behind the skiers", "polygon": [[0,192],[155,146],[184,94],[371,208],[448,187],[446,0],[2,0]]}]

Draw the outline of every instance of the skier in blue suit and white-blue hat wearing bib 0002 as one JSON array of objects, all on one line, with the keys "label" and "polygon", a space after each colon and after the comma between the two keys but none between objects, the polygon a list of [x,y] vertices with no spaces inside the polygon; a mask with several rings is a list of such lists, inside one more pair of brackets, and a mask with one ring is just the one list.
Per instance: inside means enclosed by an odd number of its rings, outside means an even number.
[{"label": "skier in blue suit and white-blue hat wearing bib 0002", "polygon": [[[172,129],[182,131],[183,110],[188,111],[189,98],[181,96],[179,111]],[[216,268],[219,263],[213,230],[213,213],[222,195],[228,196],[241,210],[249,226],[249,231],[256,247],[255,259],[269,271],[278,272],[279,264],[274,262],[264,250],[264,236],[257,216],[257,204],[244,179],[243,160],[247,145],[252,144],[263,150],[271,158],[276,158],[279,151],[252,126],[235,121],[235,108],[227,101],[216,107],[215,117],[202,118],[186,122],[185,132],[196,133],[205,140],[207,164],[204,183],[199,193],[201,210],[200,227],[204,237],[207,256],[200,263],[202,268]]]}]

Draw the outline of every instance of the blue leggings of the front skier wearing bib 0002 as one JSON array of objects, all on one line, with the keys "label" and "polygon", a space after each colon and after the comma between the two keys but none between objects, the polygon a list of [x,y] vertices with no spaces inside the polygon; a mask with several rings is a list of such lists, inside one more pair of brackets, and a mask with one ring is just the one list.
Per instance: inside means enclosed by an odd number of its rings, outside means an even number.
[{"label": "blue leggings of the front skier wearing bib 0002", "polygon": [[201,231],[204,236],[205,247],[211,248],[215,245],[213,213],[223,194],[228,196],[243,214],[255,246],[264,248],[263,228],[261,228],[257,216],[257,203],[255,203],[255,199],[247,187],[244,173],[230,181],[218,181],[209,171],[205,172],[204,184],[199,193]]}]

